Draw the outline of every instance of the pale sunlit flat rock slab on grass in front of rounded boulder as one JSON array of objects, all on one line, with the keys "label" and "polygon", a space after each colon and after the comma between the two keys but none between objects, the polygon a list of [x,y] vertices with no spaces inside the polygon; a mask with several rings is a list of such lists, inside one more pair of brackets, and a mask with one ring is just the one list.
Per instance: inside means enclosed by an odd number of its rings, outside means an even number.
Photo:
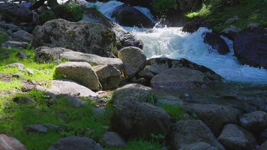
[{"label": "pale sunlit flat rock slab on grass in front of rounded boulder", "polygon": [[52,80],[51,88],[46,90],[46,92],[55,95],[91,97],[93,99],[99,97],[98,94],[91,91],[89,88],[67,79]]}]

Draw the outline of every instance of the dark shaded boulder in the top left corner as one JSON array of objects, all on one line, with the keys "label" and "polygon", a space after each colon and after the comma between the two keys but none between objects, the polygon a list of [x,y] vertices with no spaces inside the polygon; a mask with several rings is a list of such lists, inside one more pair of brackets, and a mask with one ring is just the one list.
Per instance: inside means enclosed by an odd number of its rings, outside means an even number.
[{"label": "dark shaded boulder in the top left corner", "polygon": [[33,12],[24,5],[14,2],[0,3],[0,14],[2,19],[7,22],[32,22]]}]

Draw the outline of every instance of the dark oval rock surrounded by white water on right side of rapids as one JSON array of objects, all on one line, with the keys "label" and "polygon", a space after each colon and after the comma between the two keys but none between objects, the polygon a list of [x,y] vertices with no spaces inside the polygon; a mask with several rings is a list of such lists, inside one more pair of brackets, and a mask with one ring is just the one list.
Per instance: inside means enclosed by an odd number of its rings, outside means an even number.
[{"label": "dark oval rock surrounded by white water on right side of rapids", "polygon": [[225,55],[230,52],[229,47],[224,39],[215,33],[206,32],[204,42],[211,45],[211,47],[217,50],[221,55]]}]

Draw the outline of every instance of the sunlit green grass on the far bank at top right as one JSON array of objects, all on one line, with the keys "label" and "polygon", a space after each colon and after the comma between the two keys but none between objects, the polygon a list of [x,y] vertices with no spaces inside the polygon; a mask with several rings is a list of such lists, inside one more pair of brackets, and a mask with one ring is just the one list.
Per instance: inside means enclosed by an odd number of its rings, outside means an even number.
[{"label": "sunlit green grass on the far bank at top right", "polygon": [[261,26],[267,27],[267,1],[265,0],[241,0],[240,4],[229,7],[223,6],[211,11],[217,6],[220,0],[205,0],[204,5],[200,10],[188,12],[186,16],[190,19],[205,19],[212,21],[216,31],[221,31],[227,26],[218,26],[219,23],[224,23],[232,16],[238,16],[241,20],[234,22],[232,25],[244,29],[251,22],[258,23]]}]

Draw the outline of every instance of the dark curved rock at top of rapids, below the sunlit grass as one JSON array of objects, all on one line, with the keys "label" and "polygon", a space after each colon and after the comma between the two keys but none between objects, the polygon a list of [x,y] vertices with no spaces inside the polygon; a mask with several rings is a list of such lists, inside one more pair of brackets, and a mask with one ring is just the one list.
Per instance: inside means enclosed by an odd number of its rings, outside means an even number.
[{"label": "dark curved rock at top of rapids, below the sunlit grass", "polygon": [[210,22],[204,20],[192,20],[183,26],[182,32],[193,33],[196,32],[201,27],[213,29],[213,26]]}]

